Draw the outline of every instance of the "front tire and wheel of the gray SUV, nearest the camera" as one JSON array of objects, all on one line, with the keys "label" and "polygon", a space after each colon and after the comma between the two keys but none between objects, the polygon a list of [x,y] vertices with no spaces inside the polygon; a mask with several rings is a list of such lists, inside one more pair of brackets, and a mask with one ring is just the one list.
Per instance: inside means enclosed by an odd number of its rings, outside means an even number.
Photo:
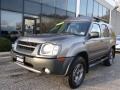
[{"label": "front tire and wheel of the gray SUV, nearest the camera", "polygon": [[69,86],[72,89],[78,88],[83,83],[86,74],[85,59],[82,57],[76,58],[70,70],[68,75]]}]

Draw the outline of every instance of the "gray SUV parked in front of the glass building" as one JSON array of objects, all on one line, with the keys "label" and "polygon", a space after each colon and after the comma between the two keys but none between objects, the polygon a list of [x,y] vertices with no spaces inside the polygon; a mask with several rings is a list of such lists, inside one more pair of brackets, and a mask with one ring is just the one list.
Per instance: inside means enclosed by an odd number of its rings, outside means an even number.
[{"label": "gray SUV parked in front of the glass building", "polygon": [[70,87],[77,88],[90,67],[113,64],[115,43],[110,25],[78,17],[56,24],[48,33],[20,37],[12,57],[29,71],[68,76]]}]

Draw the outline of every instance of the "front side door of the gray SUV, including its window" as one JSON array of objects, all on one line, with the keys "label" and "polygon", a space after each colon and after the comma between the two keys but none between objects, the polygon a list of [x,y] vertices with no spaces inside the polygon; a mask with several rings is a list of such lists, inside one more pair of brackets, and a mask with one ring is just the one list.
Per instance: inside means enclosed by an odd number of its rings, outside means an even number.
[{"label": "front side door of the gray SUV, including its window", "polygon": [[89,58],[91,59],[90,62],[93,62],[94,60],[101,57],[103,53],[103,41],[101,38],[101,30],[98,24],[93,24],[92,29],[90,32],[98,32],[99,37],[91,38],[87,41],[87,50],[89,53]]}]

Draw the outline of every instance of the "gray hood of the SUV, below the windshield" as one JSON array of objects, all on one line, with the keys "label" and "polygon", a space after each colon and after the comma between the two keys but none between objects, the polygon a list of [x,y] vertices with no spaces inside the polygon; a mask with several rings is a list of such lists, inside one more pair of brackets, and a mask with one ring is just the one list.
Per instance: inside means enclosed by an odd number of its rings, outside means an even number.
[{"label": "gray hood of the SUV, below the windshield", "polygon": [[72,40],[76,37],[81,36],[75,36],[71,34],[40,34],[40,35],[32,35],[32,36],[25,36],[20,37],[19,40],[21,41],[28,41],[28,42],[36,42],[36,43],[44,43],[44,42],[62,42],[66,40]]}]

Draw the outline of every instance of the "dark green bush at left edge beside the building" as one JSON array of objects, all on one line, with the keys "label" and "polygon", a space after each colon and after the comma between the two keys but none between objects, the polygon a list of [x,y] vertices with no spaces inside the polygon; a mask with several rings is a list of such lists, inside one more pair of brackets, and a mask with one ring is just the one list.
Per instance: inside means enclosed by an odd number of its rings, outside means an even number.
[{"label": "dark green bush at left edge beside the building", "polygon": [[6,52],[11,50],[11,41],[7,38],[0,37],[0,52]]}]

